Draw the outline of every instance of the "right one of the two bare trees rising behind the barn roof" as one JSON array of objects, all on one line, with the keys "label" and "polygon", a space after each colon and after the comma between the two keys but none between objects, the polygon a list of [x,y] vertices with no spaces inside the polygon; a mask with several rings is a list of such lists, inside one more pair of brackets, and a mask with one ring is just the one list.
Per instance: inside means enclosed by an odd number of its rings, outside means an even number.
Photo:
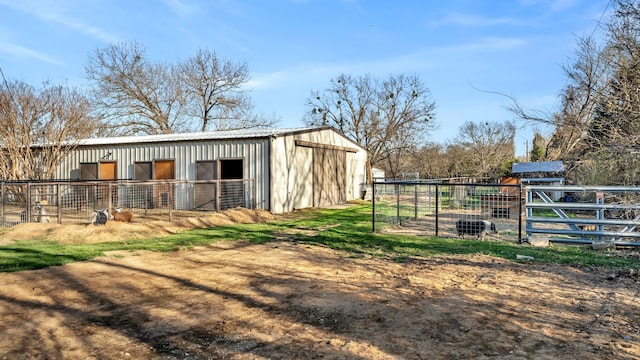
[{"label": "right one of the two bare trees rising behind the barn roof", "polygon": [[180,86],[187,99],[186,114],[199,119],[200,131],[271,127],[275,116],[257,115],[248,90],[246,63],[234,63],[215,52],[200,49],[177,65]]}]

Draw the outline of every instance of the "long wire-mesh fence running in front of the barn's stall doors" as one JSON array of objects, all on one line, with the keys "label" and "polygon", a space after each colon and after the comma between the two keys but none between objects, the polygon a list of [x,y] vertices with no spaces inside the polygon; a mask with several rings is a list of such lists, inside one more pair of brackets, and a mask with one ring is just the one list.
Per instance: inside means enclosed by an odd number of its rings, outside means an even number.
[{"label": "long wire-mesh fence running in front of the barn's stall doors", "polygon": [[135,221],[175,220],[256,208],[253,180],[0,182],[0,226],[88,224],[96,210],[125,208]]}]

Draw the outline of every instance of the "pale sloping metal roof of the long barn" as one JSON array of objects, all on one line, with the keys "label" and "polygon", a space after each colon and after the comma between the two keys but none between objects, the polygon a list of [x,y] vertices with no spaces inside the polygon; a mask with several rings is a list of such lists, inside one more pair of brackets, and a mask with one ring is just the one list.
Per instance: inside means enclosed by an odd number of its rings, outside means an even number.
[{"label": "pale sloping metal roof of the long barn", "polygon": [[268,138],[273,136],[283,136],[296,133],[331,129],[331,127],[298,127],[281,129],[246,129],[246,130],[226,130],[207,131],[178,134],[158,134],[158,135],[136,135],[103,137],[80,140],[80,146],[92,145],[114,145],[114,144],[143,144],[156,142],[176,142],[176,141],[198,141],[198,140],[232,140],[232,139],[255,139]]}]

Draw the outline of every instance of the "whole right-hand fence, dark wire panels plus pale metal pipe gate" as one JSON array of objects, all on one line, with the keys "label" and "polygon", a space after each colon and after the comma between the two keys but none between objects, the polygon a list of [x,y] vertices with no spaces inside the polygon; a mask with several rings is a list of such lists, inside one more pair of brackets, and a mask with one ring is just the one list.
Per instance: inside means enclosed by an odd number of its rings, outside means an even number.
[{"label": "whole right-hand fence, dark wire panels plus pale metal pipe gate", "polygon": [[488,239],[640,246],[640,187],[387,180],[372,190],[374,232],[459,237],[459,220],[484,220],[497,230]]}]

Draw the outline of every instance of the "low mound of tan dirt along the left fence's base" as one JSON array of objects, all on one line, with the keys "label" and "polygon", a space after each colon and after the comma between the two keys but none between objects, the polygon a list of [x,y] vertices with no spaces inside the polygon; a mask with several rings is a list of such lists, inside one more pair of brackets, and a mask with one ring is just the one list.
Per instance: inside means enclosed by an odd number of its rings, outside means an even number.
[{"label": "low mound of tan dirt along the left fence's base", "polygon": [[105,225],[18,224],[0,234],[0,244],[15,240],[51,240],[61,244],[97,243],[131,239],[148,239],[180,233],[189,229],[205,229],[233,223],[259,223],[275,216],[264,210],[235,208],[219,213],[175,221],[122,223],[109,221]]}]

